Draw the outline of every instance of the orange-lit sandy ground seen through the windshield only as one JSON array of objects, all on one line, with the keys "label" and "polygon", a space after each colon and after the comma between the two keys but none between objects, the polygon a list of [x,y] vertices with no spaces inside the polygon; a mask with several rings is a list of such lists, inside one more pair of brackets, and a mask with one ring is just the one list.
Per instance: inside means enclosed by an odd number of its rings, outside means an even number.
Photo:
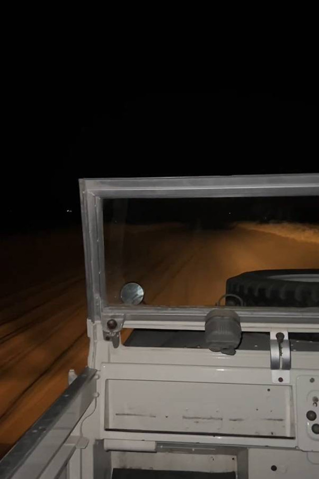
[{"label": "orange-lit sandy ground seen through the windshield only", "polygon": [[167,224],[143,227],[143,234],[132,227],[122,244],[117,234],[107,238],[108,299],[120,304],[122,285],[137,281],[147,305],[214,305],[226,280],[245,271],[319,268],[318,242],[319,228],[305,225],[243,223],[212,231]]}]

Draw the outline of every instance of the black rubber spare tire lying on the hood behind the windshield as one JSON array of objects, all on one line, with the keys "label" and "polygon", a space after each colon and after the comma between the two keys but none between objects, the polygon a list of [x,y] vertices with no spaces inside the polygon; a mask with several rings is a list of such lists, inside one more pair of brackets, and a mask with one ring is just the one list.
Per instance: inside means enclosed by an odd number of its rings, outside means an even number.
[{"label": "black rubber spare tire lying on the hood behind the windshield", "polygon": [[[291,281],[284,278],[285,276],[292,278],[292,275],[299,277],[314,275],[314,281]],[[319,269],[242,273],[227,280],[226,294],[239,296],[244,306],[318,307]],[[226,305],[234,305],[234,300],[226,298]]]}]

